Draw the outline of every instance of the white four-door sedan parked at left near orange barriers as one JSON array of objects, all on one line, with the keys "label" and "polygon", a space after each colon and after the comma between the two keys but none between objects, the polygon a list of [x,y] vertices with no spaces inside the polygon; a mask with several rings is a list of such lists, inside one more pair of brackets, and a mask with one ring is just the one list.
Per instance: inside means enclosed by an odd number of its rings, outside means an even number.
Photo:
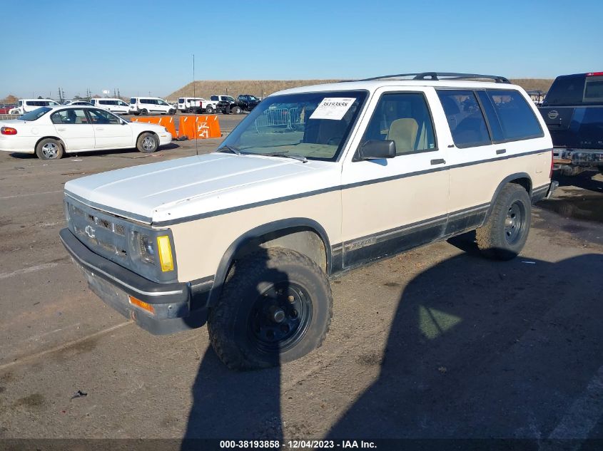
[{"label": "white four-door sedan parked at left near orange barriers", "polygon": [[0,120],[0,150],[35,153],[41,160],[133,147],[151,153],[171,140],[171,133],[161,125],[130,123],[106,110],[80,105],[41,107],[19,119]]}]

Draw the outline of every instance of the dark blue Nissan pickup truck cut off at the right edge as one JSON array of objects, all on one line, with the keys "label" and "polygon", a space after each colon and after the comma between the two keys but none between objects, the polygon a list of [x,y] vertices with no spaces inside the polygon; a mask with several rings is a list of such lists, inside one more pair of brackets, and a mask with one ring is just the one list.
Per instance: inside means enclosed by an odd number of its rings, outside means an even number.
[{"label": "dark blue Nissan pickup truck cut off at the right edge", "polygon": [[553,140],[554,170],[603,173],[603,72],[555,78],[538,109]]}]

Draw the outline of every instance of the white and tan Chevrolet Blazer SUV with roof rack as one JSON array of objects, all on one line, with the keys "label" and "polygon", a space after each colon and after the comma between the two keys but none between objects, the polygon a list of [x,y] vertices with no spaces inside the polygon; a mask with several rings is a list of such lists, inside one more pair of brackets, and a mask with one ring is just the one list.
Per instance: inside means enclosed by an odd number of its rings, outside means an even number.
[{"label": "white and tan Chevrolet Blazer SUV with roof rack", "polygon": [[263,368],[320,346],[343,271],[472,230],[486,256],[517,256],[551,167],[544,120],[504,77],[294,88],[214,153],[70,180],[61,239],[139,326],[208,321],[223,363]]}]

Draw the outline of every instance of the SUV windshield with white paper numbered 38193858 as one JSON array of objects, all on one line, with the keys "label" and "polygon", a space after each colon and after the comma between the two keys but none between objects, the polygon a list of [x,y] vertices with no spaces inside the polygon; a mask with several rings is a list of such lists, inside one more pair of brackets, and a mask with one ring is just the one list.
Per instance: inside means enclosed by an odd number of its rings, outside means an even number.
[{"label": "SUV windshield with white paper numbered 38193858", "polygon": [[263,100],[224,140],[243,154],[337,159],[365,91],[278,95]]}]

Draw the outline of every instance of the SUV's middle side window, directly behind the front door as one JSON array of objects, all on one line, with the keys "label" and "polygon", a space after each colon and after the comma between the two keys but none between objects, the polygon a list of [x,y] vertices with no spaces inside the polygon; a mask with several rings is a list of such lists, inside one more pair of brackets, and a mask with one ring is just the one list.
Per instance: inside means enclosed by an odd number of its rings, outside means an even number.
[{"label": "SUV's middle side window, directly behind the front door", "polygon": [[480,104],[472,90],[437,90],[452,140],[457,147],[490,144],[490,134]]}]

